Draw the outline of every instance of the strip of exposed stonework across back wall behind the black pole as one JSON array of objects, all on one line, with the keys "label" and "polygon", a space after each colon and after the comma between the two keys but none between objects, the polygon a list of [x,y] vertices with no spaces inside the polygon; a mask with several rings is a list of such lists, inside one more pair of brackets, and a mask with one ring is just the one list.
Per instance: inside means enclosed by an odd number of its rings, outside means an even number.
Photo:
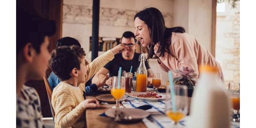
[{"label": "strip of exposed stonework across back wall behind the black pole", "polygon": [[[99,24],[116,27],[134,27],[134,15],[137,10],[100,7]],[[166,26],[172,26],[173,15],[163,12]],[[91,6],[63,5],[63,23],[92,24],[93,10]]]}]

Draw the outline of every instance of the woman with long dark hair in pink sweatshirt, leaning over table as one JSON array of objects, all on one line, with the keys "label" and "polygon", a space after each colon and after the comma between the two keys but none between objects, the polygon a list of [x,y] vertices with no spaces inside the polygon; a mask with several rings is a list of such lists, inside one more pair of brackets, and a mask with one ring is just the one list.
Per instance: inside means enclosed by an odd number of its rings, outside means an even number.
[{"label": "woman with long dark hair in pink sweatshirt, leaning over table", "polygon": [[212,54],[199,44],[196,38],[183,27],[167,28],[162,13],[157,8],[146,8],[134,16],[135,36],[146,47],[147,59],[157,59],[163,70],[172,71],[188,67],[199,76],[200,65],[218,67],[224,81],[222,69]]}]

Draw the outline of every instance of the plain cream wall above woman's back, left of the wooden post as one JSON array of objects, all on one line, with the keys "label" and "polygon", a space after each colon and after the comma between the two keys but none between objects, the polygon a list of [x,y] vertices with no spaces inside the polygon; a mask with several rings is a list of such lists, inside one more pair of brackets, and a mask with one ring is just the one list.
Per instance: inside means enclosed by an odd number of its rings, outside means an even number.
[{"label": "plain cream wall above woman's back, left of the wooden post", "polygon": [[174,0],[173,23],[211,52],[212,0]]}]

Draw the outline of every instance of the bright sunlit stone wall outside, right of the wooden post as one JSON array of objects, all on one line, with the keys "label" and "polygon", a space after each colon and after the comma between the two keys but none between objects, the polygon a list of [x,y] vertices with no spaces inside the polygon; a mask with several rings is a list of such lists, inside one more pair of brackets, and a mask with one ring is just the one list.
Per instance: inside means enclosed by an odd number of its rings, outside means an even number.
[{"label": "bright sunlit stone wall outside, right of the wooden post", "polygon": [[226,4],[225,12],[217,13],[216,59],[226,84],[240,82],[240,3],[235,9]]}]

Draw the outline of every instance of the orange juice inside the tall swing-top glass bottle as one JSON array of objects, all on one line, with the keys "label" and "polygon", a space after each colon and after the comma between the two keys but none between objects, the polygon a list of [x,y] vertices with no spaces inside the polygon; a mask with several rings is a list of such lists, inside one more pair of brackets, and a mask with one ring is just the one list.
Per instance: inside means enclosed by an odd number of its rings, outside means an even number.
[{"label": "orange juice inside the tall swing-top glass bottle", "polygon": [[147,91],[147,74],[136,75],[136,92]]}]

